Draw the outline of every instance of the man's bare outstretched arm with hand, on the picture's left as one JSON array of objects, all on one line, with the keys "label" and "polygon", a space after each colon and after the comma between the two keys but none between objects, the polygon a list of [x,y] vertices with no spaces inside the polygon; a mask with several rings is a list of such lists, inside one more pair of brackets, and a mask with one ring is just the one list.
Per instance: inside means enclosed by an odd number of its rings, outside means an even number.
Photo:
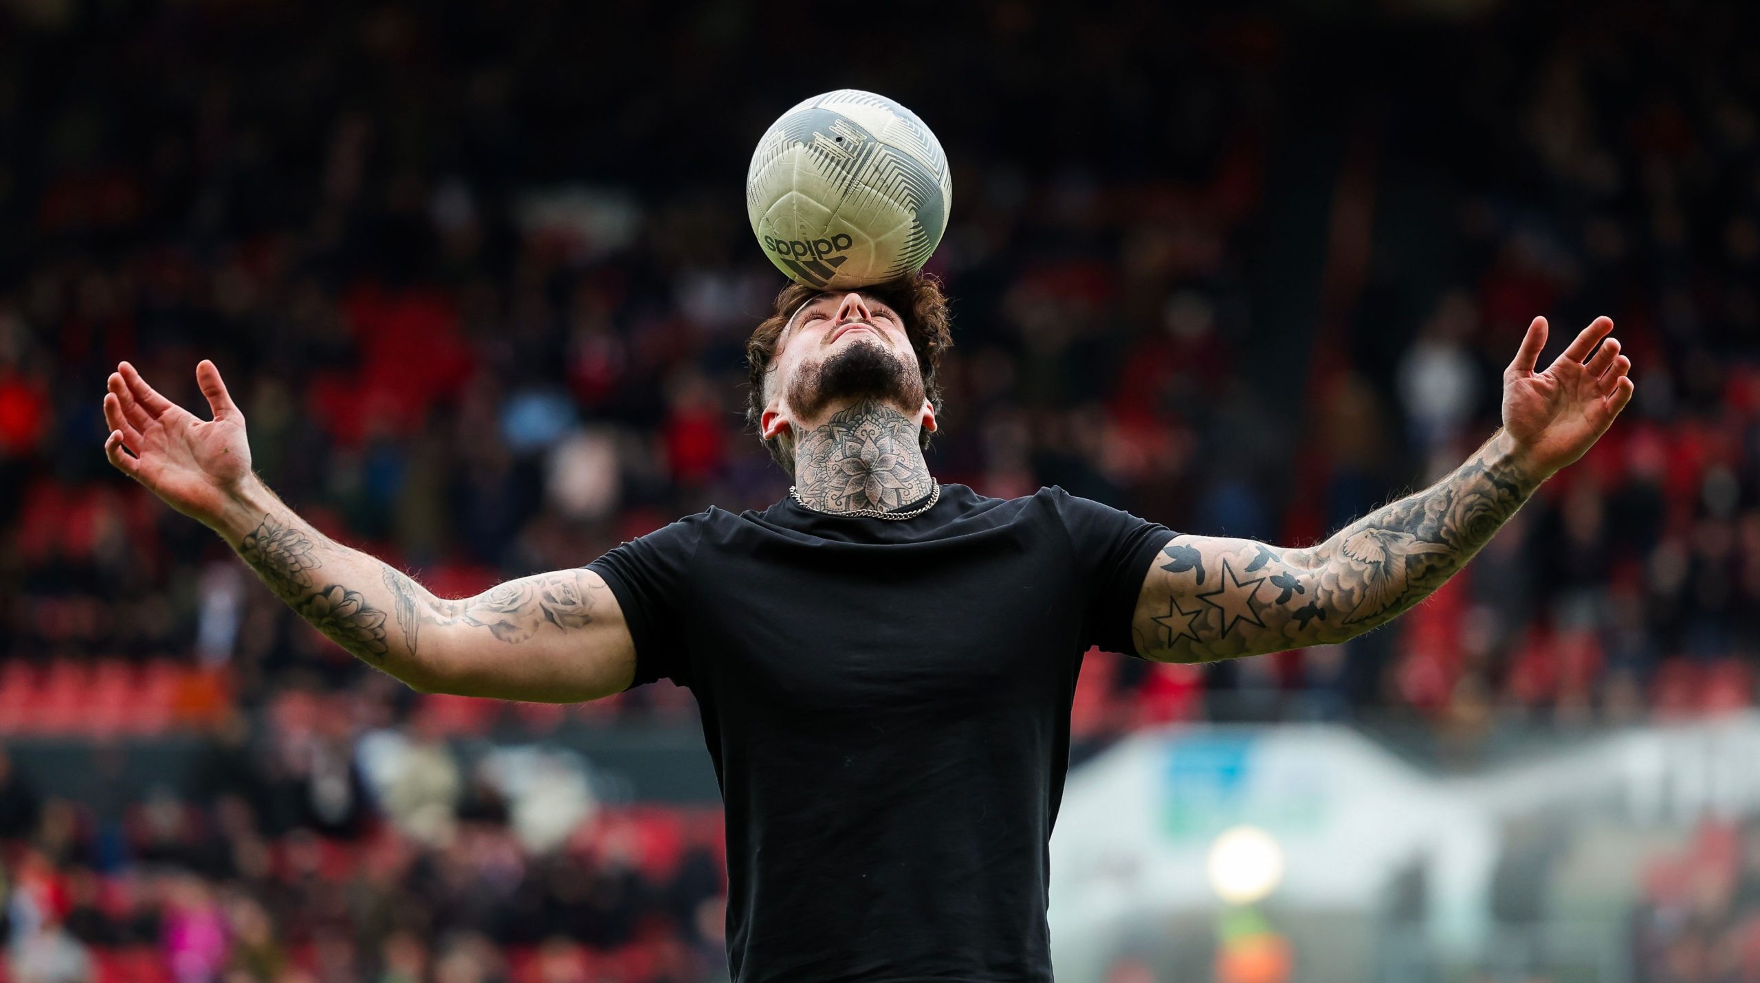
[{"label": "man's bare outstretched arm with hand, on the picture's left", "polygon": [[250,471],[245,417],[213,362],[195,369],[213,420],[176,406],[134,366],[109,378],[106,455],[167,505],[220,533],[299,617],[424,693],[572,703],[635,674],[623,610],[590,570],[539,573],[465,600],[313,529]]}]

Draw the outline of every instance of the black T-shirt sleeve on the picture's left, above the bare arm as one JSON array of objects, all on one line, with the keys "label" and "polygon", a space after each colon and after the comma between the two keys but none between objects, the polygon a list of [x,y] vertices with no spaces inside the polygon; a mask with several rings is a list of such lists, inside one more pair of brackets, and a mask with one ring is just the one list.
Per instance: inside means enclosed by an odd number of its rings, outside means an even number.
[{"label": "black T-shirt sleeve on the picture's left, above the bare arm", "polygon": [[635,644],[635,679],[630,688],[656,679],[690,686],[690,659],[681,633],[688,605],[690,563],[697,554],[700,517],[681,519],[637,536],[586,568],[605,579],[623,608]]}]

